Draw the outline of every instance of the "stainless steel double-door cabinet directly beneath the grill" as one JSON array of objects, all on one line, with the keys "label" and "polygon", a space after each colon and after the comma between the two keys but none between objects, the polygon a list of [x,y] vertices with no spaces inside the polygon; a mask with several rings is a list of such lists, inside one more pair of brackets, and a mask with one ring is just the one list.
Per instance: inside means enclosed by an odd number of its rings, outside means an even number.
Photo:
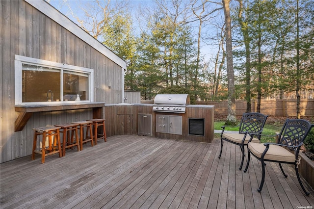
[{"label": "stainless steel double-door cabinet directly beneath the grill", "polygon": [[156,115],[156,132],[182,135],[182,116]]}]

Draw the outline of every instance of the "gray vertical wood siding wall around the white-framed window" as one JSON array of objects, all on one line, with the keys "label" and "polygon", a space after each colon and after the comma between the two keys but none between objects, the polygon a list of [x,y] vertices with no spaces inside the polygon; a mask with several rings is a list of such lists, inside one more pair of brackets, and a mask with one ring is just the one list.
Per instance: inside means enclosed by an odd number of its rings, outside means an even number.
[{"label": "gray vertical wood siding wall around the white-framed window", "polygon": [[123,69],[25,1],[0,1],[0,27],[0,162],[31,154],[32,128],[92,118],[91,109],[34,113],[14,132],[15,54],[94,69],[94,101],[122,103]]}]

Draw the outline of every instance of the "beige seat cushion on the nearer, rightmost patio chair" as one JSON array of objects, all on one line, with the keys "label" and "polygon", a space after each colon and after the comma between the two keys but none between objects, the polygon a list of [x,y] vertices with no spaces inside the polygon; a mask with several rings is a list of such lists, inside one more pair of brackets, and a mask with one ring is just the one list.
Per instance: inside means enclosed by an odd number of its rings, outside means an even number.
[{"label": "beige seat cushion on the nearer, rightmost patio chair", "polygon": [[[249,143],[247,145],[247,148],[257,157],[261,158],[262,153],[266,149],[266,146],[264,144],[256,144],[256,143]],[[264,159],[269,160],[278,160],[278,161],[284,161],[284,162],[294,162],[295,161],[295,155],[291,152],[289,152],[284,147],[278,146],[278,145],[269,145],[269,149],[264,156]]]}]

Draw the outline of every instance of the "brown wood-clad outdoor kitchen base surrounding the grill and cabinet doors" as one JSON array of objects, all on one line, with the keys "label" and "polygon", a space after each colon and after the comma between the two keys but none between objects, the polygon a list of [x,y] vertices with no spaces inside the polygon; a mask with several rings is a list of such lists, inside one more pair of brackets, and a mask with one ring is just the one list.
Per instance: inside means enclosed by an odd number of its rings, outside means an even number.
[{"label": "brown wood-clad outdoor kitchen base surrounding the grill and cabinet doors", "polygon": [[[138,114],[152,115],[152,136],[167,139],[211,142],[214,138],[214,106],[187,105],[185,113],[154,112],[153,104],[105,104],[107,136],[138,134]],[[182,116],[182,134],[161,133],[156,131],[157,115]],[[205,119],[205,135],[189,135],[188,119]]]}]

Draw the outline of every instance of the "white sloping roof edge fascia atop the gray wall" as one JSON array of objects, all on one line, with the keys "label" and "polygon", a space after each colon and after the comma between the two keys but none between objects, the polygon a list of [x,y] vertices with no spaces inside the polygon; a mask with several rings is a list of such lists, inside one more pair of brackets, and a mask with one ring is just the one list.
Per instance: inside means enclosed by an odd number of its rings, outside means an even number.
[{"label": "white sloping roof edge fascia atop the gray wall", "polygon": [[54,8],[51,4],[46,2],[45,0],[25,0],[27,3],[38,9],[43,14],[47,15],[53,21],[55,21],[60,26],[63,26],[67,30],[69,30],[74,35],[78,36],[81,40],[88,43],[91,47],[93,47],[98,52],[104,54],[108,59],[112,60],[114,63],[122,67],[123,69],[127,69],[126,62],[121,59],[114,52],[110,51],[105,45],[91,36],[89,33],[85,32],[82,28],[80,28],[77,24],[72,22],[68,17],[59,12],[56,8]]}]

